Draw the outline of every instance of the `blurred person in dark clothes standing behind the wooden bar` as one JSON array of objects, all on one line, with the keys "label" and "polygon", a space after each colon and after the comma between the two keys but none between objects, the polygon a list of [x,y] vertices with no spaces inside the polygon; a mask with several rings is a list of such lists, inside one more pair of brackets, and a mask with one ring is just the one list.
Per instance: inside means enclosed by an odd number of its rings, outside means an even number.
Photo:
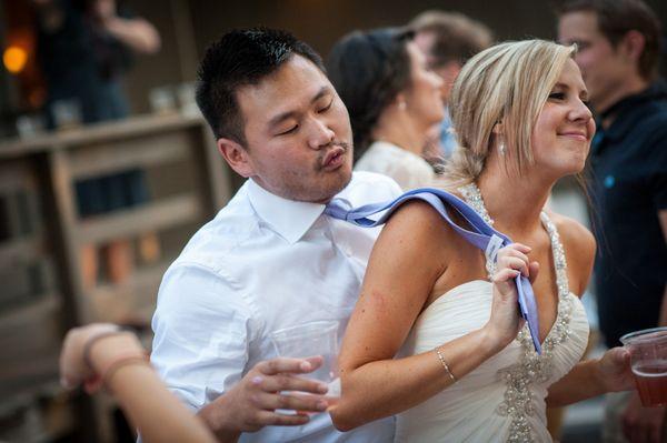
[{"label": "blurred person in dark clothes standing behind the wooden bar", "polygon": [[[137,53],[155,53],[160,37],[148,21],[132,17],[115,0],[32,0],[37,11],[37,52],[47,83],[44,111],[49,128],[117,120],[128,115],[122,73]],[[78,213],[88,218],[130,208],[148,200],[145,173],[132,169],[76,183]],[[142,259],[155,260],[155,234],[139,239]],[[96,284],[99,254],[106,276],[123,281],[133,265],[130,239],[117,239],[101,250],[81,250],[83,284]]]}]

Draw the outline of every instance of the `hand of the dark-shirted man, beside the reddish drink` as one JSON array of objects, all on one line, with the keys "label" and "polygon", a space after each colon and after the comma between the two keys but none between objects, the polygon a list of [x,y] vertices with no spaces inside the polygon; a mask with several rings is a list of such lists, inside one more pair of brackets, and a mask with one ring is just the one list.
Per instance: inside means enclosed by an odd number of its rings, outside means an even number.
[{"label": "hand of the dark-shirted man, beside the reddish drink", "polygon": [[631,443],[660,443],[665,406],[644,407],[639,394],[634,392],[620,421],[623,433]]}]

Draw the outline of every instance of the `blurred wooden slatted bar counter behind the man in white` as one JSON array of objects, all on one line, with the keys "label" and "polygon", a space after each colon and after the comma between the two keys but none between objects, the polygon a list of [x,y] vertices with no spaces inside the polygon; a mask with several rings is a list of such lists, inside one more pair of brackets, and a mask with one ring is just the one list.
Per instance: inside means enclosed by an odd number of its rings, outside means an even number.
[{"label": "blurred wooden slatted bar counter behind the man in white", "polygon": [[[132,169],[151,179],[152,200],[86,220],[78,217],[78,180]],[[163,183],[177,184],[169,189]],[[17,434],[22,435],[19,441],[51,441],[73,426],[83,434],[81,441],[112,442],[111,406],[103,395],[66,396],[64,406],[47,407],[61,395],[63,333],[91,321],[148,326],[160,281],[175,259],[170,246],[227,203],[233,188],[229,170],[200,115],[145,115],[2,141],[0,184],[6,208],[0,217],[7,219],[4,236],[10,238],[0,243],[0,275],[11,280],[14,269],[26,271],[10,283],[19,296],[8,298],[0,311],[0,417],[16,412],[8,432],[13,426],[23,432]],[[162,262],[135,269],[121,284],[83,286],[82,245],[149,232],[160,232],[169,245],[162,249]],[[47,268],[39,268],[42,263]],[[26,284],[29,290],[23,291],[21,284],[37,281],[31,279],[40,270],[46,283]],[[53,293],[22,296],[42,290]],[[143,332],[150,339],[149,329]]]}]

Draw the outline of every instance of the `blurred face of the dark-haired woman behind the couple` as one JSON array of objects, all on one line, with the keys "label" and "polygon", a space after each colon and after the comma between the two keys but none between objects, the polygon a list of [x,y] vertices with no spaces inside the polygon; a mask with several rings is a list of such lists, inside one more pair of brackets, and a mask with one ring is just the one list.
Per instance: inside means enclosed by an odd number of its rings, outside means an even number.
[{"label": "blurred face of the dark-haired woman behind the couple", "polygon": [[407,46],[410,58],[410,84],[402,92],[407,111],[425,128],[438,123],[445,117],[445,104],[440,95],[442,79],[427,68],[426,57],[417,44]]}]

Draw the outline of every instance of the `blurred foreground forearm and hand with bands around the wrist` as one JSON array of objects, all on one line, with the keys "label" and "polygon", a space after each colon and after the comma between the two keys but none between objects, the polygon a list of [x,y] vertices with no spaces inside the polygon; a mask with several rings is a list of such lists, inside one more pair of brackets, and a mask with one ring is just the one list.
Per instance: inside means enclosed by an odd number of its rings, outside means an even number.
[{"label": "blurred foreground forearm and hand with bands around the wrist", "polygon": [[60,355],[62,383],[74,387],[94,374],[103,376],[104,386],[147,443],[215,442],[200,419],[167,390],[148,361],[142,363],[143,355],[136,335],[115,325],[76,328],[67,334]]}]

